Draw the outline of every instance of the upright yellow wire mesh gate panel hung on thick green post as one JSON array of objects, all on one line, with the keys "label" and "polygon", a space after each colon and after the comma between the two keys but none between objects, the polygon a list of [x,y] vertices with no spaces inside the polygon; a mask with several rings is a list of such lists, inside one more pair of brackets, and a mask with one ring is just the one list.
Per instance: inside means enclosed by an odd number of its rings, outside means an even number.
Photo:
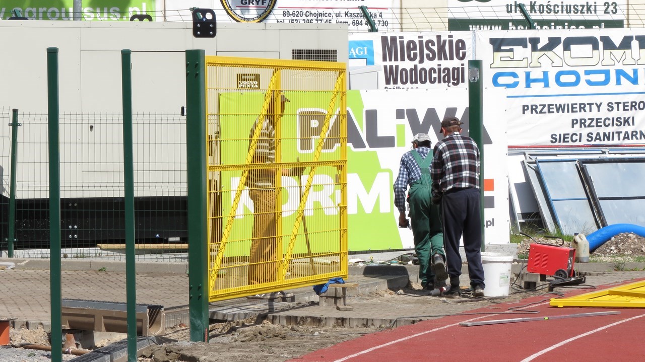
[{"label": "upright yellow wire mesh gate panel hung on thick green post", "polygon": [[337,62],[206,57],[210,300],[347,274]]}]

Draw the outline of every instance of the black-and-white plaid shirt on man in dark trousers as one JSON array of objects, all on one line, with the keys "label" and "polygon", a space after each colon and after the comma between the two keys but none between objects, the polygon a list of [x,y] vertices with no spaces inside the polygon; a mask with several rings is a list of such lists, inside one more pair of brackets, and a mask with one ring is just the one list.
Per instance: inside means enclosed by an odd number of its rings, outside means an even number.
[{"label": "black-and-white plaid shirt on man in dark trousers", "polygon": [[475,141],[453,132],[437,142],[430,175],[434,196],[453,188],[479,189],[479,148]]}]

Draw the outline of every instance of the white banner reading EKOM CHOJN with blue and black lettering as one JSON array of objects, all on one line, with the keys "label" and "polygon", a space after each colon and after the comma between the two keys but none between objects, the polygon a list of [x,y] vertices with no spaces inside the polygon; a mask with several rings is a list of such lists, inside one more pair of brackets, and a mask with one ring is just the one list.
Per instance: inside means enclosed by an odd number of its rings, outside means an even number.
[{"label": "white banner reading EKOM CHOJN with blue and black lettering", "polygon": [[484,119],[510,146],[645,144],[645,30],[477,32]]}]

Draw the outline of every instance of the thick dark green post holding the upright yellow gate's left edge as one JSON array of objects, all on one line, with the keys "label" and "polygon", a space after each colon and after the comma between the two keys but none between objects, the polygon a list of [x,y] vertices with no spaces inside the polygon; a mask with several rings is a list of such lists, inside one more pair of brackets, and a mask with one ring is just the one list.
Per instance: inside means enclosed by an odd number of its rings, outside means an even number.
[{"label": "thick dark green post holding the upright yellow gate's left edge", "polygon": [[[190,340],[208,341],[206,238],[206,71],[204,50],[186,50],[188,157],[188,307]],[[194,140],[197,142],[189,142]]]}]

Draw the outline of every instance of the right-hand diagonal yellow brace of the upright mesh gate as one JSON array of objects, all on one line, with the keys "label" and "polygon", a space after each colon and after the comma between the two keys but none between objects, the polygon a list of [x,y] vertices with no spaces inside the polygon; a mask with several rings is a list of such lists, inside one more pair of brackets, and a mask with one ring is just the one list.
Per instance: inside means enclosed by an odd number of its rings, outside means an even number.
[{"label": "right-hand diagonal yellow brace of the upright mesh gate", "polygon": [[[330,99],[329,105],[327,107],[327,113],[325,115],[325,119],[323,122],[323,128],[321,129],[320,133],[320,138],[318,139],[318,143],[316,144],[316,149],[313,153],[313,162],[318,162],[321,153],[323,153],[323,145],[324,142],[327,138],[327,132],[330,129],[330,121],[332,120],[332,116],[334,115],[334,110],[336,108],[336,103],[339,97],[343,97],[345,92],[345,83],[344,83],[344,71],[340,71],[337,75],[336,82],[333,86],[333,92],[332,92],[332,99]],[[344,113],[344,110],[340,110],[339,114]],[[303,214],[304,214],[304,206],[306,205],[307,198],[309,196],[309,191],[312,188],[312,183],[313,183],[313,175],[315,175],[315,169],[316,166],[312,166],[309,175],[307,176],[307,182],[304,186],[304,191],[303,191],[303,198],[300,200],[300,204],[298,205],[298,209],[296,211],[296,217],[295,217],[295,222],[293,223],[293,229],[291,236],[289,238],[289,244],[287,246],[286,252],[284,253],[284,262],[282,266],[282,274],[283,277],[286,277],[286,271],[288,269],[289,261],[291,260],[291,256],[293,253],[293,247],[295,247],[295,237],[298,233],[298,229],[300,228],[300,224],[303,220]]]}]

